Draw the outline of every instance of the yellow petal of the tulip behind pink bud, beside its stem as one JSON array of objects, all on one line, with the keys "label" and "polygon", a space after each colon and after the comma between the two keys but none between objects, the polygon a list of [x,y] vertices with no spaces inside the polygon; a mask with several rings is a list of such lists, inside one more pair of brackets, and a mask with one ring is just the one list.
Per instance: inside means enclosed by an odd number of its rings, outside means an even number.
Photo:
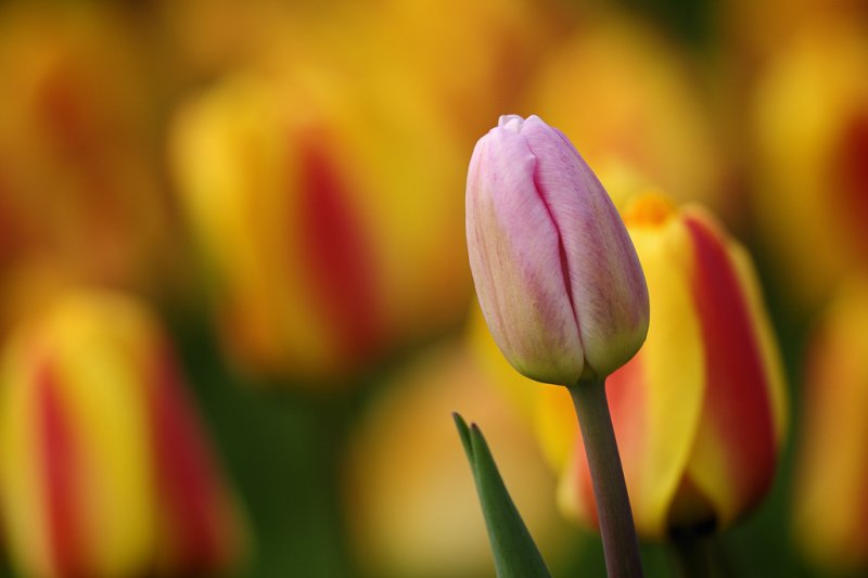
[{"label": "yellow petal of the tulip behind pink bud, beside its stem", "polygon": [[[639,354],[607,380],[607,394],[637,530],[663,539],[673,498],[692,448],[703,399],[704,361],[688,280],[688,232],[630,227],[644,270],[653,317]],[[660,321],[655,321],[660,320]],[[575,479],[592,511],[587,460],[579,445]],[[587,486],[587,487],[586,487]]]}]

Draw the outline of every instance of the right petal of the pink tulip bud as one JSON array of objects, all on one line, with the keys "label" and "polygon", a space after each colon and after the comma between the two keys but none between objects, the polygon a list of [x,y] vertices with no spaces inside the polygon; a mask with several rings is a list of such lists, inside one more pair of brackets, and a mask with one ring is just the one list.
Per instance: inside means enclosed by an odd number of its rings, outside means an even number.
[{"label": "right petal of the pink tulip bud", "polygon": [[585,359],[608,375],[648,331],[648,292],[608,193],[562,132],[531,116],[521,131],[537,157],[535,184],[563,244]]}]

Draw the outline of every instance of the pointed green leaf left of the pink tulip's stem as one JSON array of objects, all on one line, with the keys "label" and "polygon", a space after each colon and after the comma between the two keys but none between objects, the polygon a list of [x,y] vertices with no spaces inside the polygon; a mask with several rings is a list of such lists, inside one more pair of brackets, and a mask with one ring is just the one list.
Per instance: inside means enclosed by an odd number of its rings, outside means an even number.
[{"label": "pointed green leaf left of the pink tulip's stem", "polygon": [[468,427],[458,413],[452,413],[452,418],[476,483],[498,578],[551,578],[542,555],[509,497],[478,426],[471,424]]}]

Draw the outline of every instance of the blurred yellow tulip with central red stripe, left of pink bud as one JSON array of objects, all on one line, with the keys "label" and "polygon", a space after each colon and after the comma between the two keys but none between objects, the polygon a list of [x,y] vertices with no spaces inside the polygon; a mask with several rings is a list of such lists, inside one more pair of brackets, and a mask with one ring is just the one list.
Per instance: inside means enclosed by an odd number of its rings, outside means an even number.
[{"label": "blurred yellow tulip with central red stripe, left of pink bud", "polygon": [[321,383],[457,324],[462,164],[424,99],[286,68],[189,104],[173,158],[231,350]]}]

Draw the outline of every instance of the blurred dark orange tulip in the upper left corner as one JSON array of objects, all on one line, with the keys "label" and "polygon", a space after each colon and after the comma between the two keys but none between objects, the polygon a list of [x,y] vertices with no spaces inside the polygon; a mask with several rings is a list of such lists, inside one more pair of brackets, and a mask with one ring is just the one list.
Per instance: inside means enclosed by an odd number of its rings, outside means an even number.
[{"label": "blurred dark orange tulip in the upper left corner", "polygon": [[51,256],[82,280],[165,288],[178,245],[142,50],[95,5],[2,15],[0,259]]}]

